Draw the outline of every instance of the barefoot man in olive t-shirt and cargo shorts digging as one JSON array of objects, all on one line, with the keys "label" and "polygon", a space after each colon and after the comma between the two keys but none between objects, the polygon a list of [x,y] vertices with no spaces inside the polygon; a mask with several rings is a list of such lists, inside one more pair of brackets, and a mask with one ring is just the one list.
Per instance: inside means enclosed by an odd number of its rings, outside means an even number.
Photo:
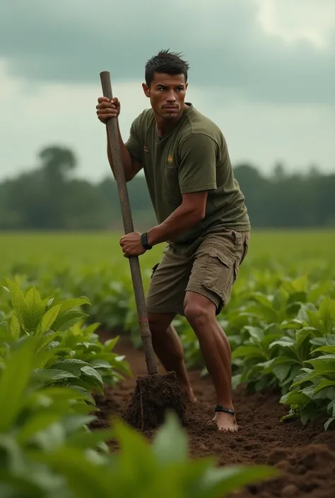
[{"label": "barefoot man in olive t-shirt and cargo shorts digging", "polygon": [[[145,234],[124,235],[120,244],[129,257],[167,242],[147,296],[155,354],[167,371],[175,370],[185,396],[196,402],[171,325],[176,314],[184,315],[216,389],[209,422],[236,432],[230,345],[216,316],[247,254],[250,224],[221,130],[185,102],[188,70],[189,64],[168,50],[146,64],[142,86],[151,109],[134,120],[127,143],[119,134],[119,143],[127,182],[143,169],[158,225]],[[96,108],[106,123],[119,117],[120,102],[100,97]],[[114,172],[108,136],[107,156]]]}]

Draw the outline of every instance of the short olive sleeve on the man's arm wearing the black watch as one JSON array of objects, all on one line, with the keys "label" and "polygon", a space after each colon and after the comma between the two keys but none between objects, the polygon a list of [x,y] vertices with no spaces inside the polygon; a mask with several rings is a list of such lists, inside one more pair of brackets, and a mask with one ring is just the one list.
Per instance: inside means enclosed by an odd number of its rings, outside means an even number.
[{"label": "short olive sleeve on the man's arm wearing the black watch", "polygon": [[216,141],[205,134],[192,134],[184,139],[178,171],[182,194],[216,189],[217,148]]}]

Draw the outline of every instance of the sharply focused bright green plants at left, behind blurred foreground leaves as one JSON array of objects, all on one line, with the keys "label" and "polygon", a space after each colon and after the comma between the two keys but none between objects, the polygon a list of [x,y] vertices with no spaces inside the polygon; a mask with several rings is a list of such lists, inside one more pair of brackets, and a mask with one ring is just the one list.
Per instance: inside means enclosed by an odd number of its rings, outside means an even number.
[{"label": "sharply focused bright green plants at left, behind blurred foreground leaves", "polygon": [[7,279],[6,283],[13,312],[0,324],[0,358],[6,358],[18,340],[31,336],[35,339],[35,377],[49,385],[102,393],[103,384],[131,375],[124,357],[112,352],[117,338],[102,344],[94,333],[98,324],[82,324],[87,315],[78,307],[89,304],[87,297],[54,304],[52,297],[42,299],[35,287],[24,295],[15,281]]}]

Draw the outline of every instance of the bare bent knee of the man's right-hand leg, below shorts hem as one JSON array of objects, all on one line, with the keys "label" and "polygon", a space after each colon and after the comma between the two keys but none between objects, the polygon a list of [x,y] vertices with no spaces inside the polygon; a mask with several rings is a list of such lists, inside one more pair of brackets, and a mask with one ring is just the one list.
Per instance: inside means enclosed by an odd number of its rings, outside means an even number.
[{"label": "bare bent knee of the man's right-hand leg, below shorts hem", "polygon": [[192,328],[201,329],[208,324],[208,321],[215,319],[216,305],[203,295],[187,292],[184,315]]}]

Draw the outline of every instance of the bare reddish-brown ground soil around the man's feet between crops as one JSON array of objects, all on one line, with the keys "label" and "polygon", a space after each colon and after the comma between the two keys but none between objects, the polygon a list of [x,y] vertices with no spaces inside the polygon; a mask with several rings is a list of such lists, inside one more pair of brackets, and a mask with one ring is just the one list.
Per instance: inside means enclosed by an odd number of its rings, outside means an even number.
[{"label": "bare reddish-brown ground soil around the man's feet between crops", "polygon": [[[103,340],[107,337],[104,334]],[[147,374],[143,352],[134,350],[127,338],[120,339],[115,350],[126,355],[134,378],[115,389],[106,388],[105,397],[97,399],[101,413],[95,427],[107,426],[113,416],[126,412],[136,377]],[[158,370],[165,373],[159,363]],[[278,392],[254,394],[237,389],[233,401],[240,429],[236,434],[223,434],[206,425],[215,405],[211,380],[201,379],[197,371],[189,372],[189,377],[198,398],[195,405],[186,405],[190,456],[215,456],[221,466],[265,463],[281,470],[280,478],[246,487],[235,498],[335,497],[335,431],[324,432],[324,420],[305,427],[299,420],[281,422],[287,408],[278,403]],[[150,440],[154,431],[143,434]]]}]

